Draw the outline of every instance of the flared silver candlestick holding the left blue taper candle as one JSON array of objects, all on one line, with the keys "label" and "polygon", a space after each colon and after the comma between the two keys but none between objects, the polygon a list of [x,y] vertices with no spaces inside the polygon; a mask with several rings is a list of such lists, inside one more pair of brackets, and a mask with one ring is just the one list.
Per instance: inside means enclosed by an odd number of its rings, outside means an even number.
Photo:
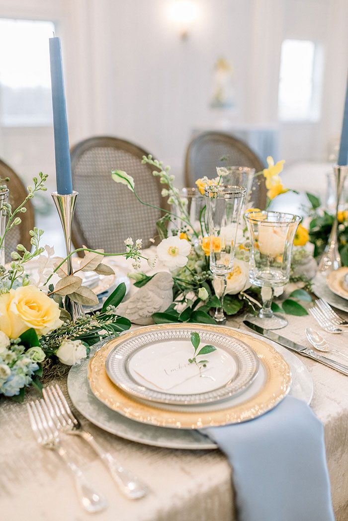
[{"label": "flared silver candlestick holding the left blue taper candle", "polygon": [[[69,255],[67,259],[68,275],[73,273],[73,259],[71,258],[71,226],[73,225],[73,217],[75,212],[76,199],[78,192],[73,191],[72,194],[61,195],[57,192],[52,193],[52,199],[56,205],[59,219],[61,219],[66,254]],[[81,304],[74,302],[69,299],[69,296],[65,297],[65,308],[70,313],[71,318],[76,320],[79,317],[85,316],[85,312]]]}]

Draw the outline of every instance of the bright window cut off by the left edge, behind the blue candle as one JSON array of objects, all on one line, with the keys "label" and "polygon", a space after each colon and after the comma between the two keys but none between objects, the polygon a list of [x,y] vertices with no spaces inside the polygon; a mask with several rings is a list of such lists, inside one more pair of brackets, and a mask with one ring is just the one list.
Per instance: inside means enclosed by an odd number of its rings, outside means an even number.
[{"label": "bright window cut off by the left edge, behind the blue candle", "polygon": [[49,38],[54,23],[0,18],[0,125],[52,125]]}]

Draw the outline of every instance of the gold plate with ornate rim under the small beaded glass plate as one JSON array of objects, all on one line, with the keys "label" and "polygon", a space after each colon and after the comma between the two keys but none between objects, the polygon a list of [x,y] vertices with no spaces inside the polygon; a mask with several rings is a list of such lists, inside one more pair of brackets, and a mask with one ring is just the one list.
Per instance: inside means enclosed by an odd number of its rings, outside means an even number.
[{"label": "gold plate with ornate rim under the small beaded glass plate", "polygon": [[[164,324],[153,326],[153,330],[159,329],[190,329],[195,330],[194,324]],[[214,331],[217,326],[199,325],[200,329]],[[141,328],[122,334],[122,337],[107,342],[91,358],[88,366],[88,379],[93,394],[105,405],[117,413],[140,421],[142,423],[159,427],[172,427],[178,429],[198,429],[202,427],[219,426],[233,423],[241,423],[270,411],[289,392],[291,384],[291,371],[284,358],[272,348],[271,345],[261,339],[250,337],[242,331],[231,330],[219,326],[219,331],[237,338],[254,349],[260,362],[266,369],[267,378],[263,388],[253,398],[244,403],[227,407],[219,411],[211,412],[176,412],[163,408],[159,409],[152,404],[140,403],[131,395],[119,389],[107,376],[105,362],[107,355],[119,342],[125,338],[135,338],[139,333],[148,331],[149,328]]]}]

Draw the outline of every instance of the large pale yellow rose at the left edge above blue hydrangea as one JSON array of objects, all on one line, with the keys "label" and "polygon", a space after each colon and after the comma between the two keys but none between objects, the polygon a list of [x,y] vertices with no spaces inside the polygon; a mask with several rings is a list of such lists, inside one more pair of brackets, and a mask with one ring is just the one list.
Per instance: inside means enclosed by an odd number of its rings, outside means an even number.
[{"label": "large pale yellow rose at the left edge above blue hydrangea", "polygon": [[33,328],[41,335],[62,326],[58,304],[36,286],[22,286],[0,295],[0,330],[18,338]]}]

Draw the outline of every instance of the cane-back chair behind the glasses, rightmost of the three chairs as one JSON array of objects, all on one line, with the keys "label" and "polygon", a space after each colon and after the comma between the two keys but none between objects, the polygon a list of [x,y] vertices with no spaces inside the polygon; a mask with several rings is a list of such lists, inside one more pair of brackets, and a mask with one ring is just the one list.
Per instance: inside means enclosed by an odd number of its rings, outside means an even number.
[{"label": "cane-back chair behind the glasses, rightmost of the three chairs", "polygon": [[[243,141],[223,132],[203,132],[189,143],[186,151],[185,182],[193,187],[196,179],[217,176],[217,166],[247,166],[256,172],[263,170],[261,159]],[[266,206],[265,178],[258,176],[253,182],[253,204]]]}]

